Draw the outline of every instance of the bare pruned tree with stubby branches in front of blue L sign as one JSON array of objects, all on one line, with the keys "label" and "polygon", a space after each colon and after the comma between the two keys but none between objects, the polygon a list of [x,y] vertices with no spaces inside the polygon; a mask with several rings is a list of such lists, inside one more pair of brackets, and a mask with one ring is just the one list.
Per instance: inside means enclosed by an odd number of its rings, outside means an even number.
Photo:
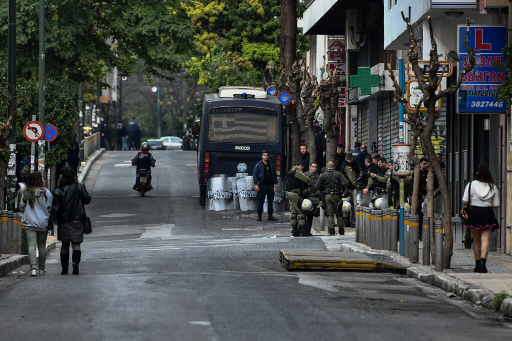
[{"label": "bare pruned tree with stubby branches in front of blue L sign", "polygon": [[[432,26],[432,19],[429,16],[429,31],[430,31],[430,40],[432,44],[432,49],[430,50],[430,63],[429,63],[429,72],[427,75],[424,74],[423,68],[418,64],[418,60],[420,59],[418,46],[416,38],[414,37],[413,28],[411,26],[411,8],[409,7],[409,17],[406,17],[403,14],[403,11],[401,11],[402,19],[407,24],[407,29],[409,32],[409,40],[411,42],[410,49],[407,53],[409,57],[409,62],[412,64],[412,68],[414,71],[414,74],[416,75],[418,86],[421,89],[421,92],[423,93],[423,97],[420,99],[419,103],[416,104],[416,107],[414,109],[410,109],[408,107],[408,100],[402,96],[402,90],[400,85],[398,84],[393,70],[390,69],[390,77],[393,80],[394,84],[394,101],[398,103],[403,104],[404,111],[407,113],[407,118],[404,117],[404,122],[410,124],[414,129],[414,135],[413,135],[413,141],[411,143],[411,155],[413,157],[413,161],[417,163],[414,157],[414,150],[416,147],[417,139],[420,139],[420,144],[423,149],[423,153],[425,156],[429,159],[430,167],[432,168],[432,171],[434,172],[435,176],[437,177],[439,181],[439,189],[441,192],[441,197],[444,204],[444,215],[443,215],[443,229],[444,229],[444,245],[443,245],[443,268],[450,268],[452,255],[453,255],[453,232],[452,232],[452,225],[451,225],[451,218],[452,218],[452,203],[451,203],[451,197],[450,192],[448,191],[448,186],[446,184],[446,178],[444,177],[444,173],[441,170],[441,166],[439,162],[437,161],[437,157],[434,151],[434,146],[432,145],[432,130],[435,125],[436,115],[435,115],[435,107],[436,102],[438,100],[441,100],[443,97],[451,96],[455,94],[460,87],[460,84],[462,83],[463,76],[467,73],[473,70],[473,67],[475,66],[475,52],[472,48],[470,48],[467,44],[467,39],[470,32],[470,25],[472,20],[470,18],[467,18],[467,29],[466,29],[466,35],[464,38],[464,46],[467,50],[468,54],[468,60],[470,61],[469,64],[464,66],[462,70],[459,72],[459,76],[457,81],[446,87],[446,89],[439,91],[439,93],[436,94],[436,91],[439,89],[439,83],[442,79],[442,74],[438,75],[438,69],[439,69],[439,54],[437,53],[437,44],[436,40],[434,39],[434,33],[433,33],[433,26]],[[451,52],[450,54],[453,55],[455,52]],[[456,53],[455,53],[456,54]],[[456,57],[458,60],[458,56]],[[390,65],[388,65],[390,66]],[[444,67],[443,67],[444,71]],[[426,76],[426,79],[425,79]],[[420,108],[421,104],[424,103],[424,106],[426,107],[426,122],[423,122],[422,115],[420,115]],[[418,178],[418,177],[416,177]],[[432,184],[433,181],[430,181]],[[413,192],[413,198],[418,196],[418,181],[415,181],[414,183],[414,192]],[[432,204],[432,200],[429,200],[429,204]],[[414,206],[412,207],[414,209]],[[433,230],[433,217],[431,214],[431,230]],[[432,235],[432,233],[431,233]],[[433,240],[433,239],[432,239]]]}]

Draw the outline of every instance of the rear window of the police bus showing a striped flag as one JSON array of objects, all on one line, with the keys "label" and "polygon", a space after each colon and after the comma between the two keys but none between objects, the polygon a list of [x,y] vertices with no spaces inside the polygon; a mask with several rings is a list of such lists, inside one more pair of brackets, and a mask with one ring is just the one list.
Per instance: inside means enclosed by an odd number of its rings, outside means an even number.
[{"label": "rear window of the police bus showing a striped flag", "polygon": [[[253,110],[247,110],[253,111]],[[208,118],[208,141],[235,143],[279,143],[276,110],[214,113]]]}]

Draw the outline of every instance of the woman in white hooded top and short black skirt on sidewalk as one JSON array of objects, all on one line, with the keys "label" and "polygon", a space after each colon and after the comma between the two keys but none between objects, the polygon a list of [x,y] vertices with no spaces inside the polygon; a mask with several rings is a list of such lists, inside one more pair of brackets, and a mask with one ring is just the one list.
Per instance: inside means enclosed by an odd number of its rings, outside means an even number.
[{"label": "woman in white hooded top and short black skirt on sidewalk", "polygon": [[470,221],[465,226],[471,229],[473,236],[473,253],[475,254],[475,272],[487,272],[485,263],[489,253],[490,233],[499,229],[500,225],[493,208],[500,206],[500,193],[494,184],[487,164],[478,165],[475,180],[466,185],[462,203],[470,201]]}]

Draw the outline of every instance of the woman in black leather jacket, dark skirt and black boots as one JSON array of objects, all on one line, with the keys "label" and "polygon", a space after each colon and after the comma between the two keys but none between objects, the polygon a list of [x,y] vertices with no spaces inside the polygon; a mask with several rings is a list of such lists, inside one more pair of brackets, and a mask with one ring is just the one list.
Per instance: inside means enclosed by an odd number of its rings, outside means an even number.
[{"label": "woman in black leather jacket, dark skirt and black boots", "polygon": [[80,243],[83,241],[83,224],[86,218],[84,205],[91,202],[91,196],[83,184],[79,184],[75,171],[66,166],[58,187],[53,191],[53,203],[50,210],[50,224],[57,220],[57,239],[61,241],[61,275],[68,275],[69,246],[73,249],[73,275],[78,275],[80,263]]}]

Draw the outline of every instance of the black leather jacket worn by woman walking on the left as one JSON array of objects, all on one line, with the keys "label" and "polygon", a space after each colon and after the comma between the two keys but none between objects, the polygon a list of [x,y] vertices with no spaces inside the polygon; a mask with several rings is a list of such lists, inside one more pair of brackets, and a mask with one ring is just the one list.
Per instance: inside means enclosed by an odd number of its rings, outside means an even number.
[{"label": "black leather jacket worn by woman walking on the left", "polygon": [[57,220],[57,224],[61,225],[85,218],[86,210],[83,206],[89,202],[91,196],[83,184],[69,183],[66,179],[61,179],[59,186],[53,191],[48,224],[51,225]]}]

